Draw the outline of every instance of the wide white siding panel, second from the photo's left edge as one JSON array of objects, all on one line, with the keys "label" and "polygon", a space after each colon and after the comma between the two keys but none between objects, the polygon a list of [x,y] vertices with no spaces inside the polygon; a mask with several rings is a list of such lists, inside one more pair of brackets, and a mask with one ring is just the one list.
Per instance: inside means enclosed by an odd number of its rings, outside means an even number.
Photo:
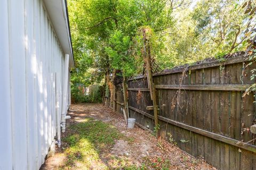
[{"label": "wide white siding panel, second from the photo's left edge", "polygon": [[13,168],[28,169],[24,1],[8,1]]}]

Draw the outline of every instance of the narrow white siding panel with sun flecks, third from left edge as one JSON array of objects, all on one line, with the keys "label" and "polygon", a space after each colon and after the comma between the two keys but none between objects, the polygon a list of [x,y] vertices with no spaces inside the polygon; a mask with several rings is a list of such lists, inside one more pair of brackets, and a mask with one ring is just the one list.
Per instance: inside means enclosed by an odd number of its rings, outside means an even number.
[{"label": "narrow white siding panel with sun flecks, third from left edge", "polygon": [[34,48],[33,0],[25,1],[25,54],[26,54],[26,106],[28,169],[36,169],[37,124],[36,120],[36,53]]}]

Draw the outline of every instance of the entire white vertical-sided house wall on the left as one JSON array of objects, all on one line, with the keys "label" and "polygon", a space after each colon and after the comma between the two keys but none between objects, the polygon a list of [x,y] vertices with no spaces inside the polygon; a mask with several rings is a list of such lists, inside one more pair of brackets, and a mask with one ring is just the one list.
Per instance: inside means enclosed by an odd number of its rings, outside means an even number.
[{"label": "entire white vertical-sided house wall on the left", "polygon": [[43,1],[1,0],[0,23],[0,170],[39,169],[60,131],[65,54]]}]

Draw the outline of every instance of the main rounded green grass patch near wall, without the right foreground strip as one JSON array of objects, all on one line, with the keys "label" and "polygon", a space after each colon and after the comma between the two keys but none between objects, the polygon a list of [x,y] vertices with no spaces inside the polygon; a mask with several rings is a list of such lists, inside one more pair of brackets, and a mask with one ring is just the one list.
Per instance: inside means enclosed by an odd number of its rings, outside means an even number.
[{"label": "main rounded green grass patch near wall, without the right foreground strip", "polygon": [[71,130],[62,141],[68,147],[64,150],[66,162],[60,169],[108,169],[100,159],[100,152],[111,148],[115,140],[122,138],[115,126],[86,118],[84,122],[70,125]]}]

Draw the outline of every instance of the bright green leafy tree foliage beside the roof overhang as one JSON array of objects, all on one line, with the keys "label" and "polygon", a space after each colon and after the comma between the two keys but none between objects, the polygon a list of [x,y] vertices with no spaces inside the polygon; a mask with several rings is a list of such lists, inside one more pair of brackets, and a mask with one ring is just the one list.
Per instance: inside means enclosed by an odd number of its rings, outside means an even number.
[{"label": "bright green leafy tree foliage beside the roof overhang", "polygon": [[[113,69],[122,70],[125,76],[138,73],[137,66],[143,64],[133,54],[140,50],[136,47],[139,28],[148,25],[161,32],[172,27],[172,7],[166,6],[166,2],[176,1],[68,1],[77,64],[71,75],[73,84],[99,83]],[[182,3],[175,7],[180,6]]]}]

